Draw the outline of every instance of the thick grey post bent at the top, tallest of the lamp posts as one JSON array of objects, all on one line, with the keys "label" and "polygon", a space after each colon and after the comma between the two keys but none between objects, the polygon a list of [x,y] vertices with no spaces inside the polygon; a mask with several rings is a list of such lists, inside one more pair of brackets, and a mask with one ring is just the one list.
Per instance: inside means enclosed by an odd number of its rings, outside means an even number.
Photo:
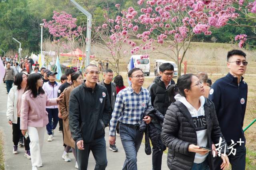
[{"label": "thick grey post bent at the top, tallest of the lamp posts", "polygon": [[90,52],[91,52],[91,32],[92,32],[92,14],[86,11],[75,0],[70,0],[78,10],[87,16],[87,29],[86,29],[86,66],[90,64]]}]

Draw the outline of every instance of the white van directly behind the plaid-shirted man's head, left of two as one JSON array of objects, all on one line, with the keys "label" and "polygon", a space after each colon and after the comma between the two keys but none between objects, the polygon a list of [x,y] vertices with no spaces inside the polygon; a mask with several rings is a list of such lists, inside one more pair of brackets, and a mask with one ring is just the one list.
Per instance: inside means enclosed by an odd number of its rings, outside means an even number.
[{"label": "white van directly behind the plaid-shirted man's head, left of two", "polygon": [[130,69],[130,62],[131,62],[131,59],[133,59],[133,64],[134,64],[134,68],[140,68],[142,69],[142,71],[144,72],[144,74],[146,74],[147,76],[149,76],[150,74],[150,60],[149,58],[148,59],[141,59],[142,55],[132,55],[130,57],[130,60],[128,62],[128,65],[127,65],[127,70]]}]

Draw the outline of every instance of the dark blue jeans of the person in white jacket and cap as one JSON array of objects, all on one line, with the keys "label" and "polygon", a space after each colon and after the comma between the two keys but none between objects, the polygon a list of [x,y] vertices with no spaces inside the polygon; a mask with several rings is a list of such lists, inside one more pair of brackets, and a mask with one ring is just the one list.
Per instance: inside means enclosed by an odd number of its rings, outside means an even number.
[{"label": "dark blue jeans of the person in white jacket and cap", "polygon": [[58,113],[59,113],[59,110],[58,110],[58,108],[56,108],[56,109],[48,109],[48,108],[46,108],[46,111],[48,112],[48,119],[49,119],[49,123],[46,125],[46,130],[47,130],[47,134],[48,135],[52,135],[52,130],[54,130],[56,128],[56,126],[58,125],[58,121],[59,121]]}]

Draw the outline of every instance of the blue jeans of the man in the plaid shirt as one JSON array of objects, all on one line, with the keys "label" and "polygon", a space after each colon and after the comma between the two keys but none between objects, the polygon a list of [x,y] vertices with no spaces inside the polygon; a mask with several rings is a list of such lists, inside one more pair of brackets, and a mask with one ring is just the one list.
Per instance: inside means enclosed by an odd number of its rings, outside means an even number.
[{"label": "blue jeans of the man in the plaid shirt", "polygon": [[137,153],[143,133],[122,123],[119,125],[119,133],[126,156],[122,170],[137,170]]}]

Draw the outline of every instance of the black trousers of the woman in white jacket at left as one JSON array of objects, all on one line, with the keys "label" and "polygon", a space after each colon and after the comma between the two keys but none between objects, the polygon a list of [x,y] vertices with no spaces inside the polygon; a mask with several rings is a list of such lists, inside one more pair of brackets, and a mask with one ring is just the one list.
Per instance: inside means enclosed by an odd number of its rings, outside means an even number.
[{"label": "black trousers of the woman in white jacket at left", "polygon": [[[12,141],[14,145],[18,145],[19,141],[20,141],[20,134],[21,130],[20,130],[20,117],[18,117],[17,120],[17,124],[12,123]],[[24,141],[24,145],[25,145],[25,150],[30,150],[29,148],[29,143],[30,143],[30,139],[29,137],[26,139],[25,137],[23,137],[23,141]]]}]

